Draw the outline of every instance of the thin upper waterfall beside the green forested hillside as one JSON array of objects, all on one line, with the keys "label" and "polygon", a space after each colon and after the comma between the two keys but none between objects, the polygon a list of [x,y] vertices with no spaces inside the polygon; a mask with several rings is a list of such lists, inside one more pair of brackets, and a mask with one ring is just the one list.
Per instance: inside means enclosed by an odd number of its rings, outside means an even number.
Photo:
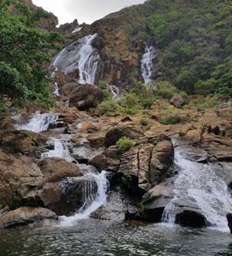
[{"label": "thin upper waterfall beside the green forested hillside", "polygon": [[153,59],[155,57],[156,50],[153,46],[147,46],[145,47],[145,53],[143,54],[142,60],[141,60],[141,71],[144,83],[147,84],[147,86],[150,86],[153,82],[152,76],[153,76]]}]

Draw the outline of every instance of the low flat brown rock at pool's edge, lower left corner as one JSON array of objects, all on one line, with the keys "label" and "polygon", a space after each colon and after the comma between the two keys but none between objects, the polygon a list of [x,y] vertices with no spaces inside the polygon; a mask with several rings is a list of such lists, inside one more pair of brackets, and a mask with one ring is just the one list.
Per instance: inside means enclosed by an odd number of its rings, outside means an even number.
[{"label": "low flat brown rock at pool's edge, lower left corner", "polygon": [[44,219],[57,219],[56,213],[50,209],[21,207],[0,215],[0,228],[13,228]]}]

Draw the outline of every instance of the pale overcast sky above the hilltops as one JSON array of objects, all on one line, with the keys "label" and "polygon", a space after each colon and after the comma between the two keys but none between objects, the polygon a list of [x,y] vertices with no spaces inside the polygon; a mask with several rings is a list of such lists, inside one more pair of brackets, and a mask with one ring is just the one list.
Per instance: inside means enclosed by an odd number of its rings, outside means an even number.
[{"label": "pale overcast sky above the hilltops", "polygon": [[59,18],[59,23],[72,22],[77,18],[79,24],[103,18],[105,15],[121,8],[141,4],[145,0],[32,0],[35,5],[53,12]]}]

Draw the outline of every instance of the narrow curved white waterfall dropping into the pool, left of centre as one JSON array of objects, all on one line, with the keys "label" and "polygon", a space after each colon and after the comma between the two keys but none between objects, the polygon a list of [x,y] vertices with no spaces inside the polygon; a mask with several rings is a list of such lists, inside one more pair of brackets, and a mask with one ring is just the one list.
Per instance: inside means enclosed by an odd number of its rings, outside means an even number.
[{"label": "narrow curved white waterfall dropping into the pool, left of centre", "polygon": [[[108,191],[108,180],[106,177],[106,172],[103,170],[101,173],[86,173],[85,177],[89,179],[89,182],[85,183],[83,188],[83,196],[85,203],[79,211],[70,217],[63,216],[60,225],[69,226],[73,225],[80,219],[88,219],[92,212],[95,212],[99,207],[106,203],[107,191]],[[94,181],[98,190],[97,193],[93,193],[92,181]]]}]

